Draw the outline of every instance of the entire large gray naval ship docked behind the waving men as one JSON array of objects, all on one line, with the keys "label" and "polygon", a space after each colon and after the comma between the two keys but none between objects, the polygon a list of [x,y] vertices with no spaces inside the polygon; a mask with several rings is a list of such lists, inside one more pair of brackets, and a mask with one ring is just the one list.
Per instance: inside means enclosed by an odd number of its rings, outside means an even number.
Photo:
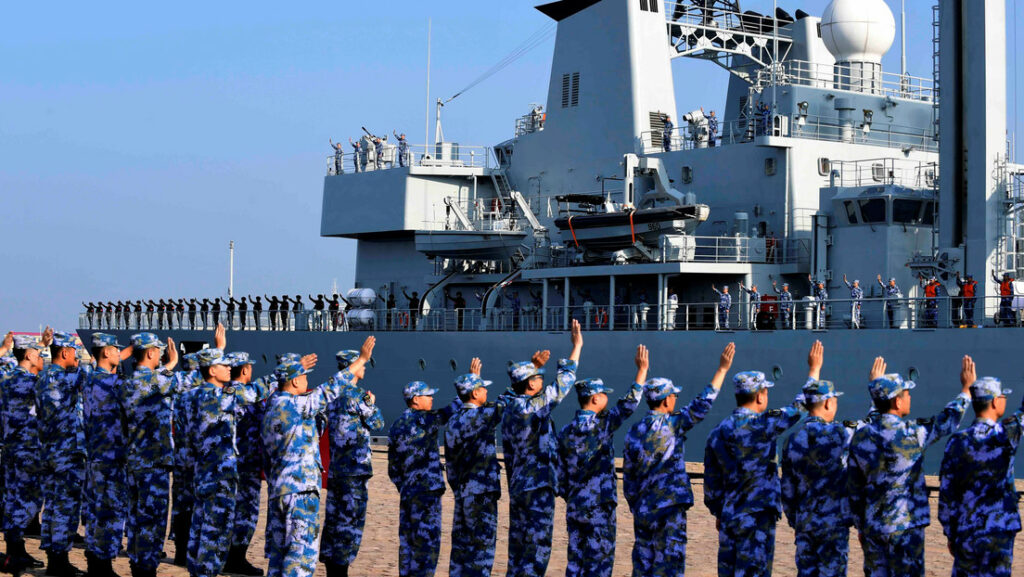
[{"label": "entire large gray naval ship docked behind the waving men", "polygon": [[[251,352],[257,373],[278,353],[316,353],[326,378],[336,351],[373,332],[366,385],[390,422],[404,409],[404,383],[440,386],[446,403],[447,383],[472,357],[485,378],[504,382],[510,361],[543,348],[564,355],[578,320],[581,377],[625,393],[643,343],[650,374],[682,384],[681,402],[730,341],[733,369],[767,373],[770,404],[782,406],[821,340],[823,378],[846,394],[843,419],[867,412],[880,355],[889,372],[918,383],[916,417],[959,391],[965,354],[979,376],[1017,383],[1021,302],[1000,308],[997,282],[1024,274],[1005,0],[937,1],[928,78],[883,70],[896,33],[884,0],[835,0],[818,15],[759,13],[739,0],[537,9],[555,23],[547,101],[510,119],[509,139],[446,139],[438,100],[433,143],[378,149],[368,138],[362,156],[328,159],[321,236],[357,241],[355,287],[342,294],[344,312],[279,314],[273,330],[268,311],[258,331],[253,319],[228,320],[229,348]],[[677,79],[674,58],[717,68]],[[714,81],[728,82],[726,101],[677,110],[677,82]],[[978,283],[973,319],[956,297],[957,275],[969,274]],[[941,283],[934,299],[922,277]],[[859,313],[844,278],[860,281]],[[880,278],[900,287],[891,320]],[[814,299],[809,279],[827,300]],[[773,281],[794,294],[788,319]],[[741,290],[754,286],[759,302]],[[713,287],[731,289],[726,319]],[[85,340],[93,321],[82,318]],[[212,340],[209,330],[169,323],[156,332],[186,348]],[[124,341],[152,328],[129,325],[111,332]],[[573,414],[571,394],[563,405],[559,423]],[[691,459],[733,408],[727,383],[691,434]],[[940,456],[941,447],[932,451],[933,472]]]}]

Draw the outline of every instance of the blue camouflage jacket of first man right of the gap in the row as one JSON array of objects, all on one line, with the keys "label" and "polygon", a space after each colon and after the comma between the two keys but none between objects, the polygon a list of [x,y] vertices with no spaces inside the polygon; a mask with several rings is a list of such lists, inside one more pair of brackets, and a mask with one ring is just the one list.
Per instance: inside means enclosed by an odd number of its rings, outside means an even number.
[{"label": "blue camouflage jacket of first man right of the gap in the row", "polygon": [[462,406],[458,398],[439,411],[406,409],[388,431],[387,473],[402,496],[443,493],[438,444],[444,425]]}]

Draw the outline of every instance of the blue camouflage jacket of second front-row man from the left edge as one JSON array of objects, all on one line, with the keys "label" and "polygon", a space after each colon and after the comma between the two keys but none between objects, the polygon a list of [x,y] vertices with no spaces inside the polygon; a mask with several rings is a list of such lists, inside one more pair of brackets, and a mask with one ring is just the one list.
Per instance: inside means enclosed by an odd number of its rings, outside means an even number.
[{"label": "blue camouflage jacket of second front-row man from the left edge", "polygon": [[85,459],[82,387],[92,365],[65,370],[48,365],[36,379],[36,418],[41,459],[50,466],[70,466]]}]

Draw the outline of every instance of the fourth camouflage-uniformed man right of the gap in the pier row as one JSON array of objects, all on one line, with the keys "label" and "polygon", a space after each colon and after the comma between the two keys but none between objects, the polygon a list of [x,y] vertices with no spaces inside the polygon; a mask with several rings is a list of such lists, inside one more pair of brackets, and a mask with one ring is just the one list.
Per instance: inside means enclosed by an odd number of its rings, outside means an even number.
[{"label": "fourth camouflage-uniformed man right of the gap in the pier row", "polygon": [[647,380],[647,347],[636,355],[637,376],[629,393],[608,406],[611,387],[599,378],[575,382],[580,410],[558,434],[558,493],[565,499],[569,534],[566,576],[611,575],[615,561],[615,453],[613,438],[630,418]]}]

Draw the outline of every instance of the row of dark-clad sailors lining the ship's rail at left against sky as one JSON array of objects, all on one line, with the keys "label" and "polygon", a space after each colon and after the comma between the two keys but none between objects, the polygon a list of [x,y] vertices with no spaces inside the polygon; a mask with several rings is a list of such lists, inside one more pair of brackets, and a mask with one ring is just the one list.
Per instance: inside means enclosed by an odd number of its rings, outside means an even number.
[{"label": "row of dark-clad sailors lining the ship's rail at left against sky", "polygon": [[[309,295],[168,298],[83,302],[85,327],[95,330],[209,330],[218,324],[246,330],[342,330],[345,297]],[[264,316],[264,304],[266,315]]]}]

